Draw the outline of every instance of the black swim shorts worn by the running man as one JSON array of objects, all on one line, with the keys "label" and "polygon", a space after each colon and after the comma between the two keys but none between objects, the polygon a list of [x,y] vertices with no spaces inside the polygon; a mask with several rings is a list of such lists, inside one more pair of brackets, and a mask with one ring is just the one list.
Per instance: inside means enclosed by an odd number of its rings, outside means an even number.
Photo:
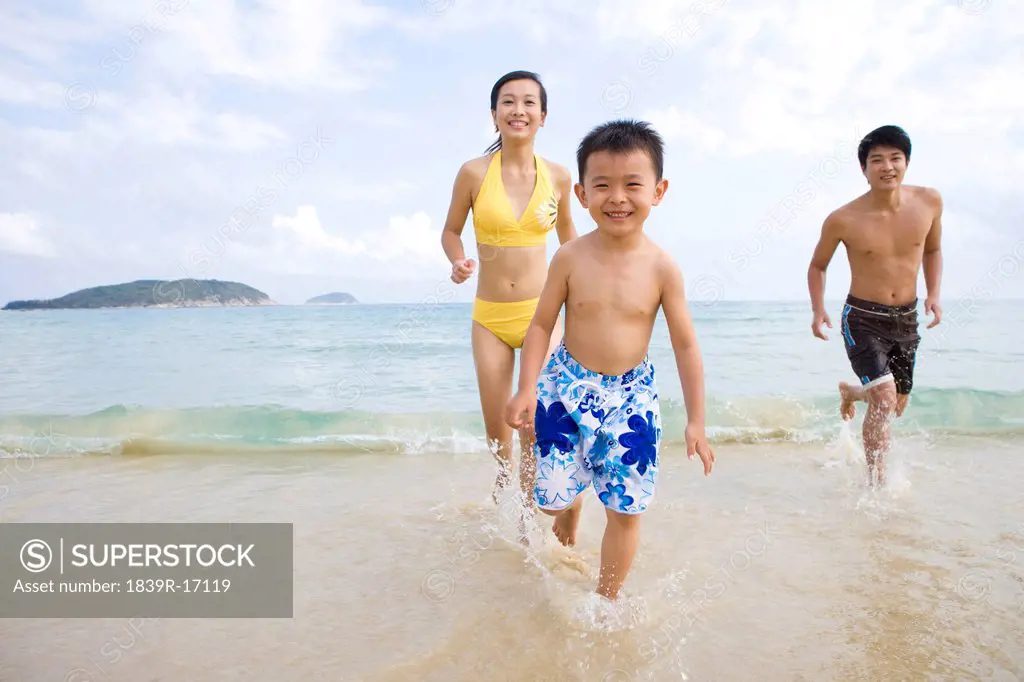
[{"label": "black swim shorts worn by the running man", "polygon": [[863,387],[894,381],[897,393],[909,393],[921,343],[916,299],[905,305],[884,305],[848,296],[843,306],[843,342]]}]

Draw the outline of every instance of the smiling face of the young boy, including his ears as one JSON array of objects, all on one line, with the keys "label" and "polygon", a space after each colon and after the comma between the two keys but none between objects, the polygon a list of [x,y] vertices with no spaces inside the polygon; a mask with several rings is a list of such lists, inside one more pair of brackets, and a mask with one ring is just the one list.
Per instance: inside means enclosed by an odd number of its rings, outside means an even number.
[{"label": "smiling face of the young boy, including his ears", "polygon": [[668,180],[657,179],[645,152],[602,151],[587,159],[586,177],[577,183],[575,193],[598,229],[626,237],[643,229],[650,207],[662,203],[668,187]]}]

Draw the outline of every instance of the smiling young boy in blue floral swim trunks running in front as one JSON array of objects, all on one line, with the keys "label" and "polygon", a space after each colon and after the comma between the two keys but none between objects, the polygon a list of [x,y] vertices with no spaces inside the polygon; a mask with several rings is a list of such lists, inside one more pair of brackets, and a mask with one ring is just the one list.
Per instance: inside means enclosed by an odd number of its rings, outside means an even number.
[{"label": "smiling young boy in blue floral swim trunks running in front", "polygon": [[[636,554],[640,514],[657,486],[662,415],[647,358],[658,308],[665,310],[686,402],[686,447],[705,475],[715,455],[705,435],[703,364],[672,258],[643,232],[662,202],[660,136],[646,123],[598,126],[577,151],[575,194],[597,229],[552,258],[521,354],[519,389],[508,403],[513,428],[535,422],[538,507],[552,530],[575,544],[580,497],[593,483],[605,507],[597,593],[614,600]],[[565,305],[565,334],[543,367]]]}]

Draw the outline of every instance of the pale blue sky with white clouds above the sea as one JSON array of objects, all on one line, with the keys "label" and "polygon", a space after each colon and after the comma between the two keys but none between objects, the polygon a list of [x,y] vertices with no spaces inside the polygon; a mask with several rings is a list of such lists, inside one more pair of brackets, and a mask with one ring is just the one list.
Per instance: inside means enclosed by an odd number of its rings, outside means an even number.
[{"label": "pale blue sky with white clouds above the sea", "polygon": [[[0,5],[0,303],[178,278],[423,300],[452,286],[452,185],[520,69],[549,95],[537,152],[573,181],[595,125],[665,136],[646,229],[691,299],[807,300],[885,124],[944,200],[945,306],[1024,297],[1022,3],[37,0]],[[826,297],[848,287],[840,247]]]}]

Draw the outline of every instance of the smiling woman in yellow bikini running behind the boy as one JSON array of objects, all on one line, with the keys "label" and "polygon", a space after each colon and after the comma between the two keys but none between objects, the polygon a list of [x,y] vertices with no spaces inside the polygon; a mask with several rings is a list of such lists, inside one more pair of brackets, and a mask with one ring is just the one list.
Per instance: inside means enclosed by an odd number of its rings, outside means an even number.
[{"label": "smiling woman in yellow bikini running behind the boy", "polygon": [[[515,349],[522,347],[547,278],[548,237],[554,230],[559,244],[565,244],[577,236],[569,211],[568,169],[534,152],[534,139],[547,114],[548,93],[537,74],[516,71],[495,83],[490,116],[499,138],[484,156],[459,169],[441,232],[452,281],[466,282],[476,270],[462,241],[472,210],[480,259],[473,301],[473,363],[487,443],[499,465],[496,504],[512,480],[512,429],[505,423],[505,406],[512,395]],[[560,333],[552,334],[549,352],[560,338]],[[531,427],[519,431],[519,442],[520,485],[531,507]]]}]

